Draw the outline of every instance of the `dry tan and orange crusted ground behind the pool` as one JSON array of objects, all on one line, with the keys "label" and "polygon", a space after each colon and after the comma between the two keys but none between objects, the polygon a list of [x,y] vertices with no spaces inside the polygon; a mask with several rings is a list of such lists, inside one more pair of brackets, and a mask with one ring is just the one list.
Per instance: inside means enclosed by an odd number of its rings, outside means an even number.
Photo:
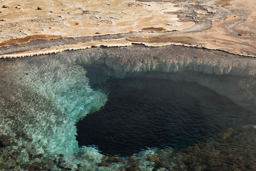
[{"label": "dry tan and orange crusted ground behind the pool", "polygon": [[0,6],[1,57],[131,43],[256,56],[255,0],[4,0]]}]

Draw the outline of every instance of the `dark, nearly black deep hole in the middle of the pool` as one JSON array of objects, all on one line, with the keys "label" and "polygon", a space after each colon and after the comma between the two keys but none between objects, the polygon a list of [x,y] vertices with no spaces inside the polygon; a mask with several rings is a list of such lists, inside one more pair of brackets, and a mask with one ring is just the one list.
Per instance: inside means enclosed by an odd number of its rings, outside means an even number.
[{"label": "dark, nearly black deep hole in the middle of the pool", "polygon": [[247,110],[195,82],[130,77],[94,88],[106,92],[108,100],[77,122],[77,140],[105,155],[129,156],[147,147],[187,148],[249,122]]}]

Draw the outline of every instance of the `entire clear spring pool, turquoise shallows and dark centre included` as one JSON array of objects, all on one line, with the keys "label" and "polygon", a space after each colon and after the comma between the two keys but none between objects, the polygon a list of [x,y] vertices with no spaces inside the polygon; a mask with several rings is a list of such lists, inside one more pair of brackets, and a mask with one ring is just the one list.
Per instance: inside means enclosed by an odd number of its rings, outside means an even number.
[{"label": "entire clear spring pool, turquoise shallows and dark centre included", "polygon": [[0,170],[256,170],[255,76],[183,46],[0,59]]}]

